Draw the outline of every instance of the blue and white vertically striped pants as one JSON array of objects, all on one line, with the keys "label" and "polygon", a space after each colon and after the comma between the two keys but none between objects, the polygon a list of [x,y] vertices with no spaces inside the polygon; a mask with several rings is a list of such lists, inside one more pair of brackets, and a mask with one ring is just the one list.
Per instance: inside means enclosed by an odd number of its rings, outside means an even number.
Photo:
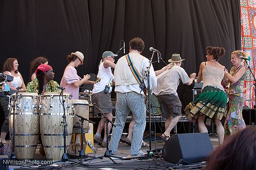
[{"label": "blue and white vertically striped pants", "polygon": [[109,143],[111,154],[115,154],[127,115],[131,111],[135,118],[134,132],[130,154],[132,156],[141,156],[141,142],[143,132],[146,126],[146,106],[141,94],[135,92],[117,93],[115,104],[115,125],[113,127],[112,137]]}]

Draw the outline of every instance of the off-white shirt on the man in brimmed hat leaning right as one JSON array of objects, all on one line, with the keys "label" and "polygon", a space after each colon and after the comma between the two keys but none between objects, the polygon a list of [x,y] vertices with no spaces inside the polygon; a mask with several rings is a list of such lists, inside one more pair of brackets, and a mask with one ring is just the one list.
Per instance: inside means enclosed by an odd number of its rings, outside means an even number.
[{"label": "off-white shirt on the man in brimmed hat leaning right", "polygon": [[179,67],[173,66],[171,69],[167,69],[162,74],[156,76],[157,87],[153,90],[155,95],[162,94],[177,94],[177,88],[182,81],[183,84],[186,84],[190,81],[190,78],[186,71]]}]

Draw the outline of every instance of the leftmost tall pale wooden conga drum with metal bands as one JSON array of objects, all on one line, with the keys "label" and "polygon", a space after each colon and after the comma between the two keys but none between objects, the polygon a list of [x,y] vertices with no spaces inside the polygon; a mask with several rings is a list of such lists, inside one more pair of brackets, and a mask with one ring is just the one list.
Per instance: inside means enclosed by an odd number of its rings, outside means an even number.
[{"label": "leftmost tall pale wooden conga drum with metal bands", "polygon": [[[10,96],[11,102],[13,102],[15,95]],[[15,102],[14,113],[16,157],[18,159],[33,159],[40,135],[39,95],[36,93],[19,93]],[[13,110],[9,123],[10,133],[13,135]]]}]

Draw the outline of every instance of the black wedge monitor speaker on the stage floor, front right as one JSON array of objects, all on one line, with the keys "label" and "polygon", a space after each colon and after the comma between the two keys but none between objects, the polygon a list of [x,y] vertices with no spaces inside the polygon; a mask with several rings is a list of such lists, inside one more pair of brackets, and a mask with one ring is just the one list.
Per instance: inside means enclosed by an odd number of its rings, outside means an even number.
[{"label": "black wedge monitor speaker on the stage floor, front right", "polygon": [[173,164],[198,163],[206,161],[212,150],[208,133],[175,134],[163,146],[162,156]]}]

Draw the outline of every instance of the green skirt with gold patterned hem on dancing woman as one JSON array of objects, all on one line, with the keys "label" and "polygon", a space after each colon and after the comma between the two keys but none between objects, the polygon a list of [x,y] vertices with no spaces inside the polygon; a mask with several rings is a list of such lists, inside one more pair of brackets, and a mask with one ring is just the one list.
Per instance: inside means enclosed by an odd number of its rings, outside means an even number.
[{"label": "green skirt with gold patterned hem on dancing woman", "polygon": [[210,126],[212,120],[224,120],[226,117],[227,97],[223,90],[206,86],[195,101],[186,106],[185,113],[189,121],[197,122],[198,115],[206,115],[205,125]]}]

